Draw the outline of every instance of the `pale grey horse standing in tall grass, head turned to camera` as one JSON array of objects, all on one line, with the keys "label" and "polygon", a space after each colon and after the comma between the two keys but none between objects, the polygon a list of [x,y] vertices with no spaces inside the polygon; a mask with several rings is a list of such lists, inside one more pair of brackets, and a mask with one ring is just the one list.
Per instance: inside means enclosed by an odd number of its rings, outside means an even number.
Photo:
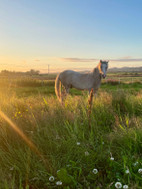
[{"label": "pale grey horse standing in tall grass, head turned to camera", "polygon": [[64,86],[66,93],[69,93],[70,88],[79,90],[88,90],[89,93],[93,88],[94,93],[97,92],[101,84],[101,79],[106,77],[108,61],[100,60],[96,68],[89,73],[79,73],[73,70],[65,70],[56,77],[55,93],[61,101],[61,84]]}]

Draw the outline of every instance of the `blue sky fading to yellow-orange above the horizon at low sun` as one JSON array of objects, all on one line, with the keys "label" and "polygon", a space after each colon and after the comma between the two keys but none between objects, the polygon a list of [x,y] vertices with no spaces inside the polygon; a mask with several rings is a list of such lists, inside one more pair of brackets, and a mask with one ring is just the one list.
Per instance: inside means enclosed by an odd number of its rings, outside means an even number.
[{"label": "blue sky fading to yellow-orange above the horizon at low sun", "polygon": [[0,70],[142,66],[142,0],[0,0]]}]

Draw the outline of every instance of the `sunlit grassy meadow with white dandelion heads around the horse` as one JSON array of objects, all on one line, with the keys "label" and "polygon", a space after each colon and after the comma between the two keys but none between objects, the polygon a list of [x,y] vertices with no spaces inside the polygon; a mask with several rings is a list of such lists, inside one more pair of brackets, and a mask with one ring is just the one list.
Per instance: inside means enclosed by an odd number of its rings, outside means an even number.
[{"label": "sunlit grassy meadow with white dandelion heads around the horse", "polygon": [[103,81],[64,105],[54,78],[0,78],[0,188],[140,189],[142,82]]}]

